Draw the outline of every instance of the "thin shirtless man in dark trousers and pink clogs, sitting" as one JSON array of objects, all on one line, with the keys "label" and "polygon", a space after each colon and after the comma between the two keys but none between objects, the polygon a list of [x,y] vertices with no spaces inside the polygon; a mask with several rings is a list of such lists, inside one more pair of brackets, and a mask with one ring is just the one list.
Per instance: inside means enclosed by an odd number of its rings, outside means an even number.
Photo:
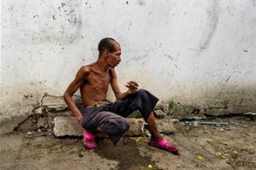
[{"label": "thin shirtless man in dark trousers and pink clogs, sitting", "polygon": [[[119,43],[112,38],[102,39],[98,43],[98,61],[79,69],[74,81],[64,92],[64,101],[84,127],[84,147],[97,147],[94,133],[98,131],[107,134],[116,145],[130,127],[125,118],[138,110],[148,123],[152,134],[148,144],[177,154],[179,148],[163,139],[158,132],[153,114],[158,98],[145,89],[138,89],[138,83],[134,81],[127,82],[125,85],[127,90],[121,93],[115,71],[119,62],[121,62]],[[116,96],[115,102],[106,99],[109,84]],[[84,106],[82,113],[72,100],[72,95],[78,88]]]}]

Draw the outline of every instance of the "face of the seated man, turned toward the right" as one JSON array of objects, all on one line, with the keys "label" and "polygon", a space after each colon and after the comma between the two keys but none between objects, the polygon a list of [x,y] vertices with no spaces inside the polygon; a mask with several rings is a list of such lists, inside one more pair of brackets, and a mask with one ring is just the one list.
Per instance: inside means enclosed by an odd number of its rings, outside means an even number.
[{"label": "face of the seated man, turned toward the right", "polygon": [[109,66],[114,69],[116,66],[118,66],[118,63],[121,62],[121,48],[120,45],[117,42],[113,42],[115,44],[115,51],[108,52],[107,62]]}]

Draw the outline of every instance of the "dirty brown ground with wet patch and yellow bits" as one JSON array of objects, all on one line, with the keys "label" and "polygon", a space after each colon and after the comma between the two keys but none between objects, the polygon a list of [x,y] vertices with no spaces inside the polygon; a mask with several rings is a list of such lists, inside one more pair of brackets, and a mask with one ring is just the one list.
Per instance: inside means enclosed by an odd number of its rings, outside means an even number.
[{"label": "dirty brown ground with wet patch and yellow bits", "polygon": [[57,138],[46,132],[1,136],[1,169],[256,169],[256,121],[232,116],[205,121],[228,126],[174,124],[163,136],[179,145],[179,155],[149,147],[149,136],[125,136],[116,147],[106,138],[85,149],[82,138]]}]

